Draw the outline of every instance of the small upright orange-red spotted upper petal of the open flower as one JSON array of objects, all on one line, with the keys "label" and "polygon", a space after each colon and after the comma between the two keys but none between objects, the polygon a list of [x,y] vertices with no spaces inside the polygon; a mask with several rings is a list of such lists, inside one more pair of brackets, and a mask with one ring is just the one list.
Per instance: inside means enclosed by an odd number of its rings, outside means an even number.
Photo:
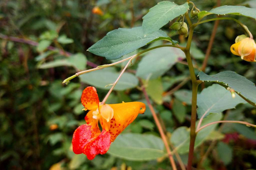
[{"label": "small upright orange-red spotted upper petal of the open flower", "polygon": [[99,97],[95,87],[90,86],[83,90],[81,102],[87,110],[96,110],[99,107]]}]

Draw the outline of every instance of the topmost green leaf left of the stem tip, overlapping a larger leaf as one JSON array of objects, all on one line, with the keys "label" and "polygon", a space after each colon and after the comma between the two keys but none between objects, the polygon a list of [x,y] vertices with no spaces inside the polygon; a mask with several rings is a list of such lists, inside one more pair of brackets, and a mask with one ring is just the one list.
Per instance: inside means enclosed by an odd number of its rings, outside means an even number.
[{"label": "topmost green leaf left of the stem tip, overlapping a larger leaf", "polygon": [[188,3],[177,5],[173,2],[162,1],[149,9],[143,17],[143,32],[148,35],[160,29],[174,18],[183,15],[189,8]]}]

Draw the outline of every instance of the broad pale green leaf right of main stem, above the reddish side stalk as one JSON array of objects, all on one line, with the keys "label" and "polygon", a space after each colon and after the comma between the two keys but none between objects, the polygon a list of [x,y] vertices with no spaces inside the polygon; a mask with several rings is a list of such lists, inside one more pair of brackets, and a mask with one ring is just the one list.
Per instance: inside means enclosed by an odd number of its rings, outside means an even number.
[{"label": "broad pale green leaf right of main stem, above the reddish side stalk", "polygon": [[235,108],[239,103],[246,103],[238,95],[232,98],[230,91],[220,85],[213,84],[201,92],[197,97],[197,115],[219,113],[227,109]]}]

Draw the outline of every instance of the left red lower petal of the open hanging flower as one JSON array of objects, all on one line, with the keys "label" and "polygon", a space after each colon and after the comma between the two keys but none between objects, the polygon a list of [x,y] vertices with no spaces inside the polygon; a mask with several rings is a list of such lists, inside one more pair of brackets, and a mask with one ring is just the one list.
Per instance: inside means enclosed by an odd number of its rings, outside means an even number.
[{"label": "left red lower petal of the open hanging flower", "polygon": [[79,126],[74,134],[72,139],[73,152],[75,154],[83,153],[84,147],[100,133],[95,133],[92,131],[92,126],[88,124],[83,124]]}]

